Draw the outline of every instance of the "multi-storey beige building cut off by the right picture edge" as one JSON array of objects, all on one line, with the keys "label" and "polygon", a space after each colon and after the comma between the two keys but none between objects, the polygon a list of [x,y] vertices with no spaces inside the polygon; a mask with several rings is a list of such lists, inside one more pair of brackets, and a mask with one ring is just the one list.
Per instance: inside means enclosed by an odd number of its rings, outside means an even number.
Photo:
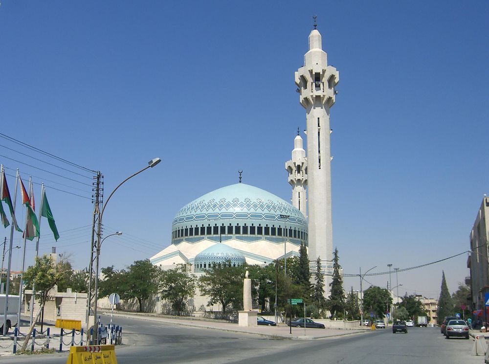
[{"label": "multi-storey beige building cut off by the right picture edge", "polygon": [[489,293],[488,214],[489,198],[484,196],[470,231],[471,253],[467,259],[470,279],[466,279],[466,283],[470,286],[472,310],[482,309],[486,293]]}]

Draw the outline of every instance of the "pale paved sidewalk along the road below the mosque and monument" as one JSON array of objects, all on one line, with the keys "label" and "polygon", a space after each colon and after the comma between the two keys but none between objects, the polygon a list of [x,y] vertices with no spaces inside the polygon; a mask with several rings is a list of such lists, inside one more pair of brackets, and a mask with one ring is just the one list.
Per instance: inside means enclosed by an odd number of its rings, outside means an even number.
[{"label": "pale paved sidewalk along the road below the mosque and monument", "polygon": [[[110,310],[100,310],[99,312],[105,312],[110,314]],[[198,327],[220,331],[240,332],[245,334],[260,335],[271,339],[294,339],[294,340],[308,340],[308,339],[321,339],[331,338],[334,336],[351,335],[356,333],[368,332],[370,328],[358,328],[358,329],[304,329],[299,327],[292,327],[292,334],[290,334],[290,327],[285,324],[278,324],[277,326],[255,326],[244,327],[238,326],[238,323],[233,323],[224,320],[203,319],[203,318],[189,318],[189,317],[172,317],[153,313],[139,313],[139,312],[114,312],[114,317],[126,317],[126,318],[140,318],[144,320],[151,320],[157,322],[164,322],[174,325],[182,325],[188,327]],[[124,336],[123,336],[124,340]]]}]

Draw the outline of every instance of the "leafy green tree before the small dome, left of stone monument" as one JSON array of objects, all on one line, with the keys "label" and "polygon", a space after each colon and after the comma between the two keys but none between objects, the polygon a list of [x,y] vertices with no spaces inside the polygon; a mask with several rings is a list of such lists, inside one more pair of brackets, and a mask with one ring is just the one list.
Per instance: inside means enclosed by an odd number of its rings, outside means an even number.
[{"label": "leafy green tree before the small dome, left of stone monument", "polygon": [[228,306],[235,310],[243,309],[243,279],[245,266],[231,267],[231,262],[214,264],[199,279],[202,295],[209,296],[207,306],[221,303],[222,318]]}]

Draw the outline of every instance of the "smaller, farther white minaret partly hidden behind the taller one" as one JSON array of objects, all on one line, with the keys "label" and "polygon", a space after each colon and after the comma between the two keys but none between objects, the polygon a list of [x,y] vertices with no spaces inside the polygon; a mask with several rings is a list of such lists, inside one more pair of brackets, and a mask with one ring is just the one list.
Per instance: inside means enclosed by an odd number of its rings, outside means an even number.
[{"label": "smaller, farther white minaret partly hidden behind the taller one", "polygon": [[297,129],[294,139],[292,159],[285,162],[285,169],[289,173],[289,183],[292,186],[292,205],[298,208],[304,216],[306,214],[306,186],[307,186],[307,159],[303,148],[302,138]]}]

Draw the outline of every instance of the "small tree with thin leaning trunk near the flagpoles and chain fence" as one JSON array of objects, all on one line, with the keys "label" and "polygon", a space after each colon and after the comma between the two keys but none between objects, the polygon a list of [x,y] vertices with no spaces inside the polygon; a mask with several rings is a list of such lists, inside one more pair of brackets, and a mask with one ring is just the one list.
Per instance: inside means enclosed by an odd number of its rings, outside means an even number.
[{"label": "small tree with thin leaning trunk near the flagpoles and chain fence", "polygon": [[[63,258],[63,256],[61,256],[61,259],[58,262],[55,262],[50,255],[44,254],[35,257],[34,262],[34,265],[27,268],[22,274],[22,279],[25,281],[27,287],[32,287],[34,283],[34,294],[36,295],[36,299],[40,302],[40,307],[22,344],[22,350],[25,350],[32,329],[34,328],[39,315],[44,310],[44,304],[47,301],[49,291],[63,281],[71,271],[71,265]],[[41,331],[42,330],[43,319],[41,319]]]}]

